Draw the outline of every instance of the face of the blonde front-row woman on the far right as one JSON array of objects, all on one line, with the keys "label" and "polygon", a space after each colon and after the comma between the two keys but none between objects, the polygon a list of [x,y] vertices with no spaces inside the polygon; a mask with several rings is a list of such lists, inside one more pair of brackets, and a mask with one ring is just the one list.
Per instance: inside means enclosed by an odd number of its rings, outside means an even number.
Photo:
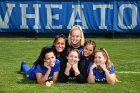
[{"label": "face of the blonde front-row woman on the far right", "polygon": [[105,58],[102,54],[102,52],[96,52],[95,53],[95,58],[94,58],[94,62],[97,65],[101,65],[101,64],[105,64],[106,63],[107,58]]}]

